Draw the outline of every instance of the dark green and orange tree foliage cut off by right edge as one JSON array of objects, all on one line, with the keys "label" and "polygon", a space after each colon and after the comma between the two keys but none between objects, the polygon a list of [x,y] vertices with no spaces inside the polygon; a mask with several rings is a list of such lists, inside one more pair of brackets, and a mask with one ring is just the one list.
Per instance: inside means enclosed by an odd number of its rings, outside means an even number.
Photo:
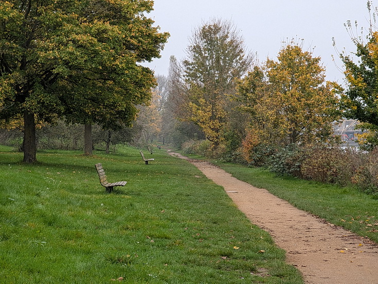
[{"label": "dark green and orange tree foliage cut off by right edge", "polygon": [[[367,2],[370,14],[368,34],[356,36],[350,21],[345,24],[356,51],[339,54],[344,64],[346,90],[340,91],[340,108],[343,116],[361,122],[359,128],[368,130],[360,137],[367,148],[378,145],[378,32],[376,31],[377,8]],[[355,23],[357,28],[357,23]]]}]

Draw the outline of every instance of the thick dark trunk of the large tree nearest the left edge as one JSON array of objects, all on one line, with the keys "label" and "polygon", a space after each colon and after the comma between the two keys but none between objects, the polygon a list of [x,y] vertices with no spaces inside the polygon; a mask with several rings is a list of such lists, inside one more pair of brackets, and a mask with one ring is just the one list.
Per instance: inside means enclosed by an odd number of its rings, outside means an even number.
[{"label": "thick dark trunk of the large tree nearest the left edge", "polygon": [[24,162],[37,162],[37,144],[35,139],[35,120],[34,113],[24,111]]}]

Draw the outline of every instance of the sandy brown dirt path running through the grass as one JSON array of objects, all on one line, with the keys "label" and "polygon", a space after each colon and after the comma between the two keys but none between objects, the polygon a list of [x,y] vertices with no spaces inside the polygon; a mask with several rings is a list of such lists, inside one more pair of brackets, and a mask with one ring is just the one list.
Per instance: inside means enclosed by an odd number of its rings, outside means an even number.
[{"label": "sandy brown dirt path running through the grass", "polygon": [[208,162],[190,160],[209,179],[224,187],[239,209],[286,251],[306,283],[377,284],[378,245],[326,223],[268,191],[233,178]]}]

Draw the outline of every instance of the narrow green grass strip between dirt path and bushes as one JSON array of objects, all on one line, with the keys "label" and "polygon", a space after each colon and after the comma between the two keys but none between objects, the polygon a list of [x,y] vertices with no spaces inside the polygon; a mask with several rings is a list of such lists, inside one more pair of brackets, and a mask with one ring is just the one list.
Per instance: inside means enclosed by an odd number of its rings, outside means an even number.
[{"label": "narrow green grass strip between dirt path and bushes", "polygon": [[232,176],[290,202],[301,210],[343,226],[378,243],[378,200],[355,188],[291,177],[277,177],[261,168],[217,164]]}]

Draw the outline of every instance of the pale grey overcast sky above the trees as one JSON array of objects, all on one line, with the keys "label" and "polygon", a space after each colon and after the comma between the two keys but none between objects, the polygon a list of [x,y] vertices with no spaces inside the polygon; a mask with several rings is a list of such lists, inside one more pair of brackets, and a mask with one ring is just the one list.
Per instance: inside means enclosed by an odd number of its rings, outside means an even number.
[{"label": "pale grey overcast sky above the trees", "polygon": [[[378,5],[375,2],[373,5]],[[192,30],[215,17],[232,20],[241,30],[246,47],[257,52],[260,61],[267,56],[276,59],[281,42],[287,38],[304,39],[303,49],[315,47],[314,55],[321,57],[327,80],[343,83],[343,73],[332,61],[332,54],[336,55],[337,65],[342,66],[332,37],[339,51],[355,51],[344,23],[357,21],[359,27],[367,28],[366,4],[366,0],[155,0],[149,16],[160,31],[171,36],[161,58],[147,66],[155,74],[167,75],[170,56],[182,60]]]}]

